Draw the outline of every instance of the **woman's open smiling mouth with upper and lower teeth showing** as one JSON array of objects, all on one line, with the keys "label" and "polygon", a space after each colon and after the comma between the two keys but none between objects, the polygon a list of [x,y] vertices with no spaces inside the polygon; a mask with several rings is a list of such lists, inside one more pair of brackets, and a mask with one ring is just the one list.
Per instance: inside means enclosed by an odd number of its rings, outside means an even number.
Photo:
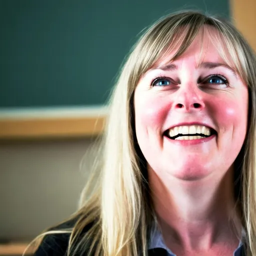
[{"label": "woman's open smiling mouth with upper and lower teeth showing", "polygon": [[201,139],[216,135],[217,132],[204,125],[180,125],[164,131],[163,135],[175,140]]}]

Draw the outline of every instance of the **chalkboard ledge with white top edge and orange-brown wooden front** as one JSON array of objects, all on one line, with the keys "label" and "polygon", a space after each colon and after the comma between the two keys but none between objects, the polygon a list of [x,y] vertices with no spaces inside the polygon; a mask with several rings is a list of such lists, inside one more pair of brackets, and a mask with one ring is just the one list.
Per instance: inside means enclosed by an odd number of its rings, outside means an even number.
[{"label": "chalkboard ledge with white top edge and orange-brown wooden front", "polygon": [[104,128],[106,107],[0,111],[0,139],[95,136]]}]

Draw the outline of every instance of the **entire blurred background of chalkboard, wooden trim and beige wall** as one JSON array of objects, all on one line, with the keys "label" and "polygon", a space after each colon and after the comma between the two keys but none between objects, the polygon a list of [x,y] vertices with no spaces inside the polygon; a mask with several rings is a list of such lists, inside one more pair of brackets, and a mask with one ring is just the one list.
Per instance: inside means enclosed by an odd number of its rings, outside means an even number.
[{"label": "entire blurred background of chalkboard, wooden trim and beige wall", "polygon": [[0,255],[75,211],[125,55],[188,8],[231,19],[256,48],[256,0],[0,0]]}]

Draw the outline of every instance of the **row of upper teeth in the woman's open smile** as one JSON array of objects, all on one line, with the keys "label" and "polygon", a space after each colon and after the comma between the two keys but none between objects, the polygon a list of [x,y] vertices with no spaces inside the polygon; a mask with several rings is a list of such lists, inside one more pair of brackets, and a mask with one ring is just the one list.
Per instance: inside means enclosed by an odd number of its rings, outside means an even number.
[{"label": "row of upper teeth in the woman's open smile", "polygon": [[210,129],[203,125],[182,125],[169,129],[169,136],[173,137],[177,134],[204,134],[210,135]]}]

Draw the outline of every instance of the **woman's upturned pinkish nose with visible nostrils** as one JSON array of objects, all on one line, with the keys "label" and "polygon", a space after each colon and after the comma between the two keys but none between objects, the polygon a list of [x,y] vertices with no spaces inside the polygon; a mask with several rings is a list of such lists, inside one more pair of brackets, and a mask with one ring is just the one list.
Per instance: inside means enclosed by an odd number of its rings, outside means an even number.
[{"label": "woman's upturned pinkish nose with visible nostrils", "polygon": [[177,91],[173,102],[173,107],[182,111],[201,110],[204,108],[202,91],[197,85],[182,85]]}]

